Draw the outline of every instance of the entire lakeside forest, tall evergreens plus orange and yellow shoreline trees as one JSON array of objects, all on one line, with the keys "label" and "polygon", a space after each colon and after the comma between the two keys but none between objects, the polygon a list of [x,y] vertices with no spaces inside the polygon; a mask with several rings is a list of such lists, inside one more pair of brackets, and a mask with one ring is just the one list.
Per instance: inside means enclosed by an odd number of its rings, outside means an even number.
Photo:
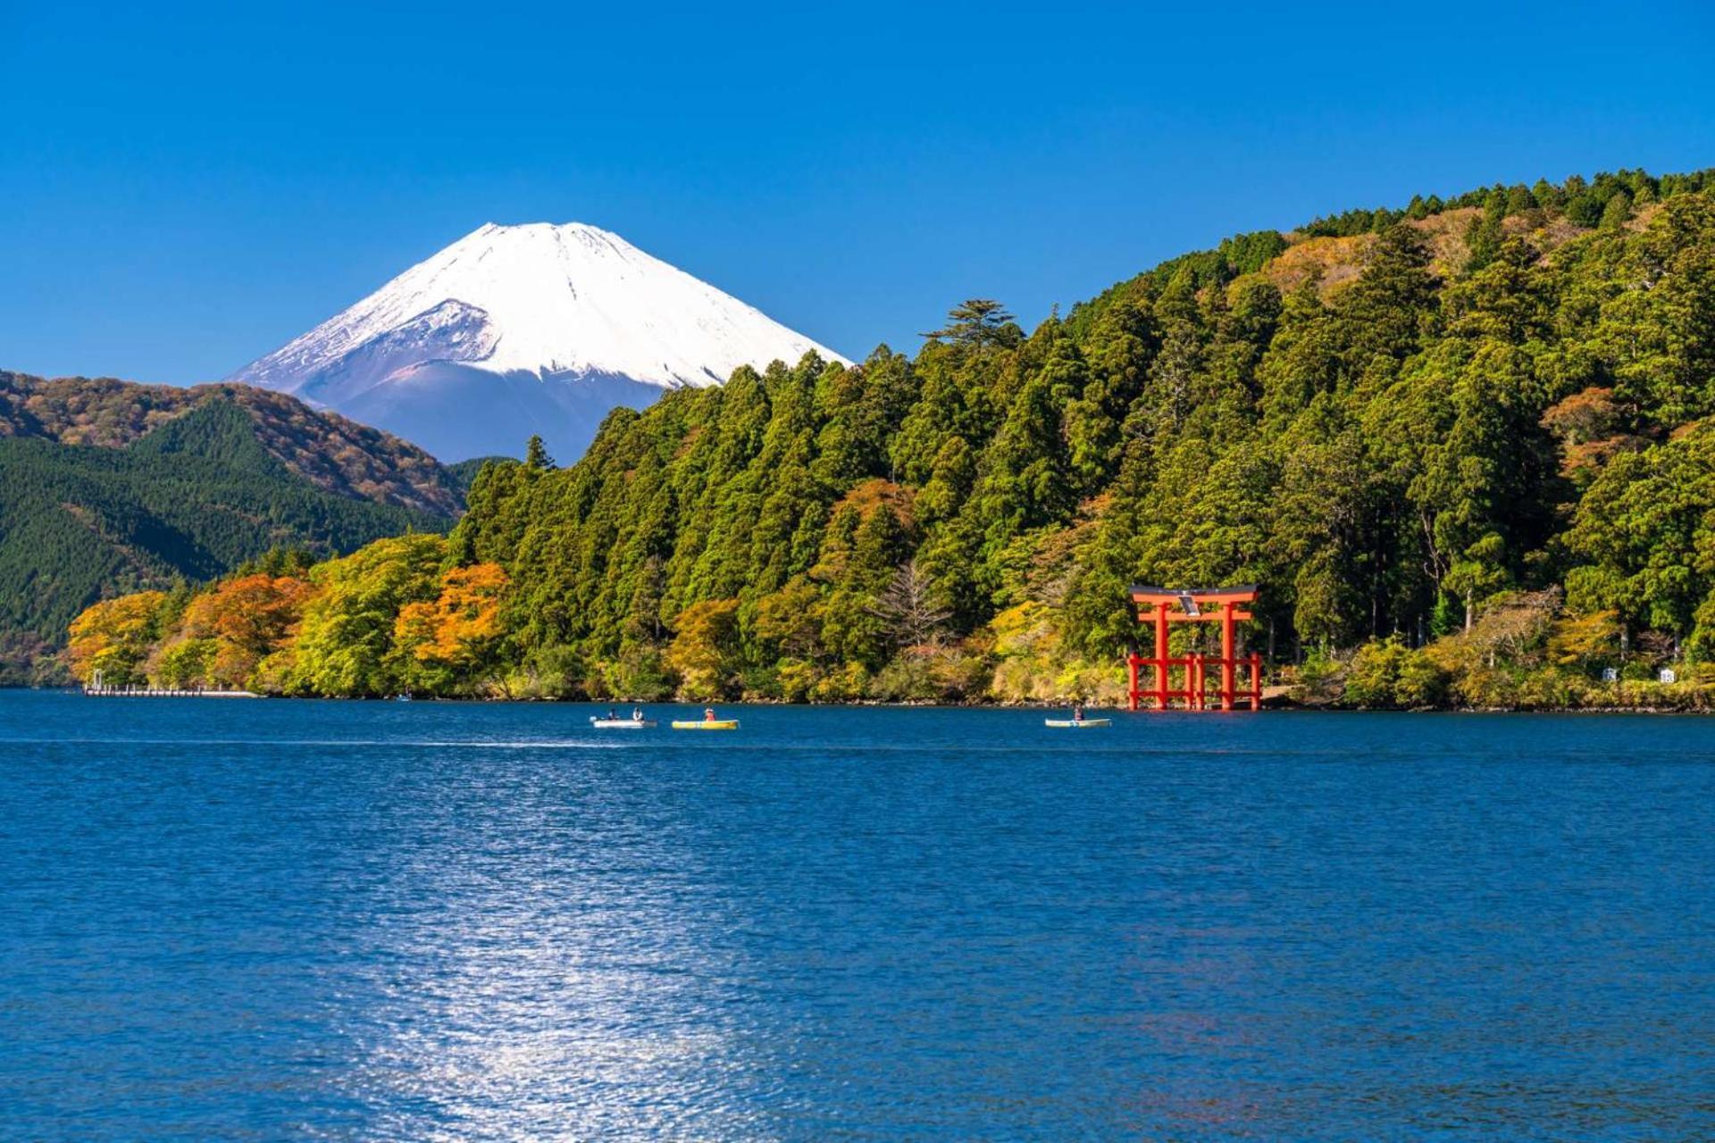
[{"label": "entire lakeside forest, tall evergreens plus orange and yellow shoreline trees", "polygon": [[1128,583],[1255,583],[1249,644],[1307,701],[1703,704],[1712,413],[1715,177],[1492,187],[1231,238],[1029,332],[972,300],[914,356],[671,392],[568,468],[487,464],[446,540],[115,601],[72,656],[285,692],[1111,701]]}]

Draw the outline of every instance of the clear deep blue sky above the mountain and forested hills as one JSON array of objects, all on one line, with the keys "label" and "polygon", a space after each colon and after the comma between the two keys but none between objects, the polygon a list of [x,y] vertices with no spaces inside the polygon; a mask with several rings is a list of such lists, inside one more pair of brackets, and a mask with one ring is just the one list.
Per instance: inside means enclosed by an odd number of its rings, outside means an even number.
[{"label": "clear deep blue sky above the mountain and forested hills", "polygon": [[1698,3],[249,7],[0,0],[0,367],[220,377],[573,219],[861,356],[1235,231],[1715,165]]}]

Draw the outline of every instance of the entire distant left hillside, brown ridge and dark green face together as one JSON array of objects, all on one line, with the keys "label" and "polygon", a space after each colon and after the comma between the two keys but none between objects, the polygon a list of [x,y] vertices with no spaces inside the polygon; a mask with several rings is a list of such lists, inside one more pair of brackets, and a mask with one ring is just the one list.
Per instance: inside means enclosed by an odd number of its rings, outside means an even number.
[{"label": "entire distant left hillside, brown ridge and dark green face together", "polygon": [[65,624],[101,595],[439,531],[463,482],[281,394],[0,374],[0,682],[53,679]]}]

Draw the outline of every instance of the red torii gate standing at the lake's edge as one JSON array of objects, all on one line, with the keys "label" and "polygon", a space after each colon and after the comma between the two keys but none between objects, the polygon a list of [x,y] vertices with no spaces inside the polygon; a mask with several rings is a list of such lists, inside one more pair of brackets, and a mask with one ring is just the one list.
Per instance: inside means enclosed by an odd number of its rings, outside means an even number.
[{"label": "red torii gate standing at the lake's edge", "polygon": [[[1158,711],[1168,709],[1173,699],[1182,699],[1188,711],[1209,709],[1209,667],[1216,667],[1221,672],[1219,709],[1230,711],[1245,701],[1250,703],[1250,709],[1262,708],[1262,656],[1252,653],[1238,658],[1233,655],[1233,629],[1242,620],[1250,619],[1250,612],[1242,610],[1238,605],[1255,601],[1255,584],[1185,589],[1134,584],[1130,593],[1132,603],[1137,607],[1137,622],[1154,624],[1156,627],[1154,658],[1140,658],[1137,651],[1132,651],[1125,660],[1132,675],[1130,696],[1134,711],[1140,708],[1144,699],[1154,699]],[[1168,627],[1171,624],[1214,622],[1221,624],[1219,655],[1199,655],[1195,651],[1183,658],[1171,658],[1168,655]],[[1137,685],[1140,667],[1154,668],[1156,685],[1149,691],[1140,691]],[[1171,685],[1170,673],[1175,667],[1182,668],[1182,687]],[[1238,691],[1238,668],[1242,667],[1250,668],[1250,685]]]}]

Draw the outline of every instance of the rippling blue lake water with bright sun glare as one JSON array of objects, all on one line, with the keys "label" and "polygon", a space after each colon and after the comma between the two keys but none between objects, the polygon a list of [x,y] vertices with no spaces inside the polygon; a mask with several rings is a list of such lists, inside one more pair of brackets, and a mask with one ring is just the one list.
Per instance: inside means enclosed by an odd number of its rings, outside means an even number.
[{"label": "rippling blue lake water with bright sun glare", "polygon": [[1715,721],[592,709],[0,692],[0,1134],[1715,1138]]}]

